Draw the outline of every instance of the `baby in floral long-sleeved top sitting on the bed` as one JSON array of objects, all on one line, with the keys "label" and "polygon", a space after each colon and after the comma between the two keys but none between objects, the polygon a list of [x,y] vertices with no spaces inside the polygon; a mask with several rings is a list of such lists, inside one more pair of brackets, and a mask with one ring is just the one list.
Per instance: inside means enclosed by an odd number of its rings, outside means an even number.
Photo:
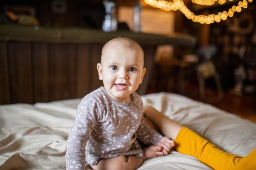
[{"label": "baby in floral long-sleeved top sitting on the bed", "polygon": [[[136,170],[143,161],[168,154],[175,143],[143,118],[135,92],[146,72],[144,52],[132,39],[118,37],[102,48],[97,64],[102,87],[79,103],[67,140],[67,170]],[[141,148],[138,141],[148,145]]]}]

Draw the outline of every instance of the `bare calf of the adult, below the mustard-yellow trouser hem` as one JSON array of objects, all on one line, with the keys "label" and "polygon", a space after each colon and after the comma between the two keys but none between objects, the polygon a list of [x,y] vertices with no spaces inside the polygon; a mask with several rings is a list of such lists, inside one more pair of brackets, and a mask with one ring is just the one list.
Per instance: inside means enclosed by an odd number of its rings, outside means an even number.
[{"label": "bare calf of the adult, below the mustard-yellow trouser hem", "polygon": [[157,126],[164,136],[173,140],[176,139],[178,132],[183,127],[151,106],[144,106],[144,115]]}]

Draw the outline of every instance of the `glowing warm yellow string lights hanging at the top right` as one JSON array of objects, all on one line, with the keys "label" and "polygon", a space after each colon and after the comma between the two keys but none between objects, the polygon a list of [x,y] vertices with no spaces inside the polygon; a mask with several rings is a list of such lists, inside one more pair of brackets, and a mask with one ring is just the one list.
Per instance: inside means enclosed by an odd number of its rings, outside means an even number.
[{"label": "glowing warm yellow string lights hanging at the top right", "polygon": [[[160,8],[164,11],[177,11],[182,12],[188,19],[192,19],[194,22],[199,22],[201,24],[211,24],[214,22],[220,22],[221,20],[226,20],[227,17],[233,17],[234,13],[241,12],[242,8],[248,7],[248,2],[253,2],[253,0],[241,0],[237,5],[233,5],[228,11],[219,12],[218,14],[206,15],[195,15],[191,12],[182,0],[173,0],[173,2],[168,2],[166,0],[144,0],[146,4],[153,6],[154,8]],[[199,5],[213,5],[217,0],[192,0],[193,3]],[[230,0],[232,1],[232,0]],[[225,3],[226,0],[218,0],[219,4]]]}]

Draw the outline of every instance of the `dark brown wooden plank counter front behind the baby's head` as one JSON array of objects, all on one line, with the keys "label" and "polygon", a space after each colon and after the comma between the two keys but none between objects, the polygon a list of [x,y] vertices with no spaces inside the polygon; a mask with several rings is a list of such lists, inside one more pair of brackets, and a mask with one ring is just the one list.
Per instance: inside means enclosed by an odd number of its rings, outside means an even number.
[{"label": "dark brown wooden plank counter front behind the baby's head", "polygon": [[[102,46],[0,41],[0,104],[83,97],[102,85],[96,67]],[[142,48],[147,74],[139,94],[146,91],[156,46]]]}]

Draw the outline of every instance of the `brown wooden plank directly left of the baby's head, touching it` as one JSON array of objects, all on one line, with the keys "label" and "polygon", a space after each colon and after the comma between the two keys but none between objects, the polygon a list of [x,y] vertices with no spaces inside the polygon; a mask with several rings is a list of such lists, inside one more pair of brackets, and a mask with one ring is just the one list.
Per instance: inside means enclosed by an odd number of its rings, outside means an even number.
[{"label": "brown wooden plank directly left of the baby's head, touching it", "polygon": [[100,62],[100,56],[101,56],[101,49],[102,49],[103,45],[99,45],[99,44],[92,44],[90,49],[90,53],[91,53],[91,90],[97,89],[98,87],[102,86],[103,83],[102,81],[100,81],[98,79],[98,71],[97,71],[97,63]]}]

